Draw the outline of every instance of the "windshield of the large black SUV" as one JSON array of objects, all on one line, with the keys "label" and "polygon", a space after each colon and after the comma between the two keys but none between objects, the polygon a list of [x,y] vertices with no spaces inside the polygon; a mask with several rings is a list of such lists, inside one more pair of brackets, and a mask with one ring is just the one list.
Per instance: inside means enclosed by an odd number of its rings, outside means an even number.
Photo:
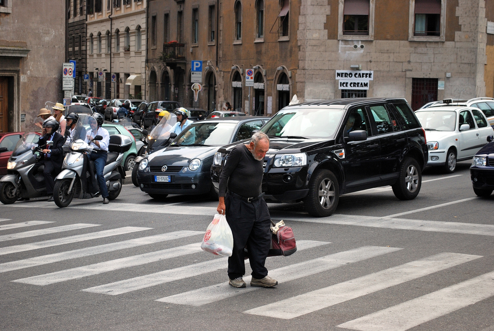
[{"label": "windshield of the large black SUV", "polygon": [[262,132],[270,137],[331,138],[338,129],[343,109],[297,109],[276,114]]}]

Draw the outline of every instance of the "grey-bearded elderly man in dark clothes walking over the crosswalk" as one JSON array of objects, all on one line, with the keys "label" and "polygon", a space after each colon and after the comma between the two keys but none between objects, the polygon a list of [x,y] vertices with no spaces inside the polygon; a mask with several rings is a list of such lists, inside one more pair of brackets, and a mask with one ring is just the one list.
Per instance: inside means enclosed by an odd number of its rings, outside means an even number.
[{"label": "grey-bearded elderly man in dark clothes walking over the crosswalk", "polygon": [[233,254],[228,258],[229,284],[245,288],[244,248],[247,246],[252,280],[250,286],[273,287],[278,282],[264,266],[271,243],[271,216],[261,194],[264,156],[269,138],[263,132],[252,135],[249,144],[235,146],[219,177],[217,211],[226,216],[233,233]]}]

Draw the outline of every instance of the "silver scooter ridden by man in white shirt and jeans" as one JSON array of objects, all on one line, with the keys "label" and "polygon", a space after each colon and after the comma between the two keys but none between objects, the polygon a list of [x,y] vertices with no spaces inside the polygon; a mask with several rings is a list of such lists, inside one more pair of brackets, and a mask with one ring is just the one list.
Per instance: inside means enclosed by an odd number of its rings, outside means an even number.
[{"label": "silver scooter ridden by man in white shirt and jeans", "polygon": [[[89,144],[93,140],[101,140],[103,137],[97,135],[92,140],[88,140],[86,134],[91,129],[90,123],[94,118],[88,115],[81,115],[77,121],[73,142],[65,146],[69,153],[65,156],[62,172],[55,178],[53,188],[53,200],[60,207],[67,207],[74,198],[91,199],[101,195],[94,170],[94,164],[86,157],[95,150]],[[132,146],[132,140],[123,134],[114,134],[110,136],[108,146],[108,156],[106,165],[103,170],[106,187],[108,189],[108,199],[116,199],[121,190],[125,171],[122,168],[124,153]],[[90,188],[97,188],[90,190]]]}]

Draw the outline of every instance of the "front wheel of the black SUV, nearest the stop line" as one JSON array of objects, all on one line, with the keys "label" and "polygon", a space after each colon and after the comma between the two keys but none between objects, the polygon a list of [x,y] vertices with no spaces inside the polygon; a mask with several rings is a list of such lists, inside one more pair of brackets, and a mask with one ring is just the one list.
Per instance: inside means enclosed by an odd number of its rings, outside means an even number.
[{"label": "front wheel of the black SUV, nearest the stop line", "polygon": [[334,173],[327,169],[316,171],[304,199],[306,211],[316,217],[330,216],[338,206],[338,200],[339,184]]}]

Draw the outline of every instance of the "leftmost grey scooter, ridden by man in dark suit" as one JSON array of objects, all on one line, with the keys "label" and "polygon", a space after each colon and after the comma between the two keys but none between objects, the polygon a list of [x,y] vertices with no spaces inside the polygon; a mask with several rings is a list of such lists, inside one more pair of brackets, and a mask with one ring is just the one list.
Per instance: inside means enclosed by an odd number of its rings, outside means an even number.
[{"label": "leftmost grey scooter, ridden by man in dark suit", "polygon": [[[7,163],[7,174],[0,179],[2,204],[13,204],[21,198],[47,196],[43,175],[44,165],[33,171],[34,165],[41,157],[42,148],[38,146],[39,138],[40,136],[35,132],[26,132],[17,142]],[[53,141],[48,140],[46,145],[53,146]]]}]

